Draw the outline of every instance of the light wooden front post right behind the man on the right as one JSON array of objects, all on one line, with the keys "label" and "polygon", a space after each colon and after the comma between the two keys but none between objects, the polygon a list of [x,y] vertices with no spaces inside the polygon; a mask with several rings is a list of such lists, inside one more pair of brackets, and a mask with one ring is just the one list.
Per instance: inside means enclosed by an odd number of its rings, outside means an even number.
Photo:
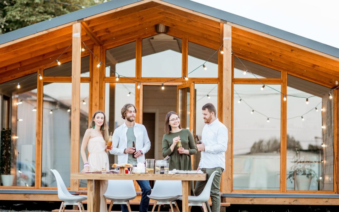
[{"label": "light wooden front post right behind the man on the right", "polygon": [[222,75],[222,123],[228,129],[228,144],[225,152],[225,172],[223,174],[222,193],[232,191],[232,26],[224,24],[223,28],[223,75]]}]

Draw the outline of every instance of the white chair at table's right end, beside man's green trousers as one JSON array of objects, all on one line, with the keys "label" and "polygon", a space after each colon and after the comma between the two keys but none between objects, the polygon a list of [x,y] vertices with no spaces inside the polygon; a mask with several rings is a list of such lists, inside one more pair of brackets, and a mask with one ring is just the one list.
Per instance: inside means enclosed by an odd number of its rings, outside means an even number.
[{"label": "white chair at table's right end, beside man's green trousers", "polygon": [[[202,208],[204,209],[204,212],[207,212],[207,206],[205,203],[210,198],[212,181],[217,172],[218,171],[214,171],[211,174],[210,178],[208,179],[205,185],[204,190],[202,190],[199,196],[188,196],[188,206],[190,206],[190,208],[192,206],[202,206]],[[182,200],[182,197],[180,197],[179,199]]]}]

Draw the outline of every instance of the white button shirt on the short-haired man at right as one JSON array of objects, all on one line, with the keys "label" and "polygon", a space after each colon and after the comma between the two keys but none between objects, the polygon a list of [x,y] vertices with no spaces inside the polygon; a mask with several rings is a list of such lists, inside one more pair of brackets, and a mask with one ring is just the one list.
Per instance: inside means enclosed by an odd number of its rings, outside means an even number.
[{"label": "white button shirt on the short-haired man at right", "polygon": [[226,126],[219,119],[206,124],[202,130],[201,140],[205,144],[205,151],[201,152],[199,167],[206,169],[221,167],[225,170],[228,142]]}]

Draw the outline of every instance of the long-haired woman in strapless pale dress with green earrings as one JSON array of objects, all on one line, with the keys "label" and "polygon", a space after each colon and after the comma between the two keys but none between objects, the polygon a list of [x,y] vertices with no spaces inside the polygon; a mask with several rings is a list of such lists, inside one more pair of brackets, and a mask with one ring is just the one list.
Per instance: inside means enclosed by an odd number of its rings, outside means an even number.
[{"label": "long-haired woman in strapless pale dress with green earrings", "polygon": [[[97,111],[93,114],[91,122],[81,143],[81,158],[84,162],[84,169],[81,172],[101,171],[106,167],[109,170],[109,161],[107,153],[113,148],[107,147],[108,126],[104,112]],[[89,152],[88,160],[86,157],[86,147]],[[100,184],[100,212],[107,212],[106,199],[103,196],[107,190],[108,181],[101,180]]]}]

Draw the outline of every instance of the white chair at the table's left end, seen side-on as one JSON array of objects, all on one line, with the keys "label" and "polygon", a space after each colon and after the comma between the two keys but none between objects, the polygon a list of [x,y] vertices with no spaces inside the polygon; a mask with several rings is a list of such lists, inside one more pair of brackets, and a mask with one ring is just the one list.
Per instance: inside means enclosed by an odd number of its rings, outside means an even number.
[{"label": "white chair at the table's left end, seen side-on", "polygon": [[64,181],[62,180],[59,172],[55,169],[51,169],[53,172],[55,179],[57,181],[58,186],[58,197],[62,201],[59,212],[64,211],[66,205],[78,205],[79,211],[85,212],[84,206],[81,201],[84,201],[87,199],[87,196],[84,195],[72,195],[67,190]]}]

